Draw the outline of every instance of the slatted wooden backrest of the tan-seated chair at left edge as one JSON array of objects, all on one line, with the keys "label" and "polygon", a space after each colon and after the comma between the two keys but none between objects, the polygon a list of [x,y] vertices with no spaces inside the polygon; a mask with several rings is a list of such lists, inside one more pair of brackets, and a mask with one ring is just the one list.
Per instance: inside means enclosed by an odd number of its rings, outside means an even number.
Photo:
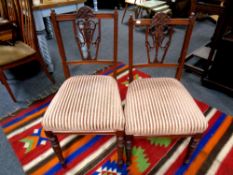
[{"label": "slatted wooden backrest of the tan-seated chair at left edge", "polygon": [[35,31],[34,18],[32,14],[31,0],[15,0],[20,9],[21,40],[35,50],[39,50]]}]

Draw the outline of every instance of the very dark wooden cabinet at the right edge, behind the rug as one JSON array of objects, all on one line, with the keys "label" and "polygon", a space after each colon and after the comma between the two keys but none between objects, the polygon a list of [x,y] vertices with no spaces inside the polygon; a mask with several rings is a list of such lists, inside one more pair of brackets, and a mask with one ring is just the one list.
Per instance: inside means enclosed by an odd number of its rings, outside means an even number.
[{"label": "very dark wooden cabinet at the right edge, behind the rug", "polygon": [[221,30],[215,38],[213,61],[202,76],[203,85],[222,90],[233,96],[233,1],[226,0]]}]

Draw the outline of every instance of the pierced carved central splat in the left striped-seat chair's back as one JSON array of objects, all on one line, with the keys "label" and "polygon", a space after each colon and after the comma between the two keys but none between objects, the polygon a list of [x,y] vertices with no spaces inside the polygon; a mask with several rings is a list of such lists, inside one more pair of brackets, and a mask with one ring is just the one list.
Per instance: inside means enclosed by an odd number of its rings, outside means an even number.
[{"label": "pierced carved central splat in the left striped-seat chair's back", "polygon": [[96,60],[98,56],[101,37],[100,20],[96,22],[94,18],[95,15],[91,8],[82,7],[78,10],[74,32],[83,60]]}]

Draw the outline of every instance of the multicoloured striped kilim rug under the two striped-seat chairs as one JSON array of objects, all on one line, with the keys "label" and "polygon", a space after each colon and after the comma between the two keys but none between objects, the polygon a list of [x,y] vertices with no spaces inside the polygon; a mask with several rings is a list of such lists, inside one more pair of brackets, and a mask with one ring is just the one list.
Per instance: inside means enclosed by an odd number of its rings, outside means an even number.
[{"label": "multicoloured striped kilim rug under the two striped-seat chairs", "polygon": [[[119,64],[118,82],[122,100],[127,90],[127,66]],[[112,68],[99,72],[109,75]],[[134,71],[135,78],[149,75]],[[116,138],[111,136],[61,135],[68,163],[63,169],[41,128],[52,97],[40,101],[0,122],[26,174],[233,174],[233,117],[197,101],[209,121],[190,164],[183,164],[189,139],[135,139],[130,167],[116,164]]]}]

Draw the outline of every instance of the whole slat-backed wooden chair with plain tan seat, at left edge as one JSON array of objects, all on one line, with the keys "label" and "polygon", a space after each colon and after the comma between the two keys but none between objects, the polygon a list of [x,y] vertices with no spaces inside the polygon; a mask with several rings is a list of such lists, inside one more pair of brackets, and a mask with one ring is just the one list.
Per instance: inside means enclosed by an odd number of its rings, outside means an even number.
[{"label": "whole slat-backed wooden chair with plain tan seat, at left edge", "polygon": [[16,102],[16,98],[7,82],[4,73],[5,70],[36,60],[40,63],[42,69],[53,83],[54,79],[49,74],[47,66],[39,52],[31,10],[31,1],[7,0],[7,4],[7,6],[10,7],[10,10],[8,10],[9,19],[14,21],[17,19],[17,16],[20,17],[19,28],[21,36],[20,40],[16,41],[14,46],[0,45],[0,81],[6,87],[11,98]]}]

